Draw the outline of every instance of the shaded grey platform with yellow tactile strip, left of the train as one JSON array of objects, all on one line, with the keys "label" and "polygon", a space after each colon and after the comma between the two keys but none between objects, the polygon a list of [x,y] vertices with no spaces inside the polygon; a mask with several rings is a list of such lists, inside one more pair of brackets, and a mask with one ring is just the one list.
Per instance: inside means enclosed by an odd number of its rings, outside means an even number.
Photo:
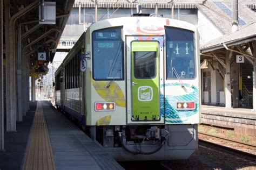
[{"label": "shaded grey platform with yellow tactile strip, left of the train", "polygon": [[5,134],[0,169],[123,169],[48,101],[31,105],[17,133]]}]

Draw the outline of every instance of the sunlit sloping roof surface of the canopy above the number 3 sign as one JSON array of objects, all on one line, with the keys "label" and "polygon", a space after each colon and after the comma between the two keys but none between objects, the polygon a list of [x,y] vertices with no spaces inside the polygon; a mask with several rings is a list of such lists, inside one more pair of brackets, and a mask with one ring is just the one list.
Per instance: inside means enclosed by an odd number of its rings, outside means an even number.
[{"label": "sunlit sloping roof surface of the canopy above the number 3 sign", "polygon": [[241,30],[236,32],[232,32],[216,38],[200,47],[200,50],[205,53],[208,51],[213,51],[215,49],[224,48],[223,43],[228,46],[233,46],[245,42],[255,41],[256,40],[256,22],[251,24],[247,24],[246,26],[242,27]]}]

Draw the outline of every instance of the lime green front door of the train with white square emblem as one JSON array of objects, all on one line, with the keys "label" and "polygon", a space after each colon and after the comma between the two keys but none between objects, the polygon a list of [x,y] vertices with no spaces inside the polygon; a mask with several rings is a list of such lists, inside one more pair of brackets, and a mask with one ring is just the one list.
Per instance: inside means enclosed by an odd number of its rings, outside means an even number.
[{"label": "lime green front door of the train with white square emblem", "polygon": [[133,41],[132,121],[159,121],[159,43]]}]

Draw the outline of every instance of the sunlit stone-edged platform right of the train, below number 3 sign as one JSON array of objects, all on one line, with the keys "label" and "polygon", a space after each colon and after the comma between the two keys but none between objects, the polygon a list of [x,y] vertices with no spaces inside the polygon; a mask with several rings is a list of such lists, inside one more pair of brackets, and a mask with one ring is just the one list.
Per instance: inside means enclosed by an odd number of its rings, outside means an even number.
[{"label": "sunlit stone-edged platform right of the train, below number 3 sign", "polygon": [[201,123],[230,128],[234,133],[256,139],[256,111],[251,109],[202,105]]}]

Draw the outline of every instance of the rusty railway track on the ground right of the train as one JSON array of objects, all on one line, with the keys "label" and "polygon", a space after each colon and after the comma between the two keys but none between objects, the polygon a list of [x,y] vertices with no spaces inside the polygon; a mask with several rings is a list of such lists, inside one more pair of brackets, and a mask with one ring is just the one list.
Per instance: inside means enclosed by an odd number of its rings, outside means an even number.
[{"label": "rusty railway track on the ground right of the train", "polygon": [[200,141],[203,141],[205,143],[218,145],[228,150],[240,152],[242,154],[246,154],[246,155],[249,155],[250,157],[256,158],[256,145],[247,144],[241,141],[218,137],[212,134],[201,133],[201,132],[198,133],[198,137]]}]

